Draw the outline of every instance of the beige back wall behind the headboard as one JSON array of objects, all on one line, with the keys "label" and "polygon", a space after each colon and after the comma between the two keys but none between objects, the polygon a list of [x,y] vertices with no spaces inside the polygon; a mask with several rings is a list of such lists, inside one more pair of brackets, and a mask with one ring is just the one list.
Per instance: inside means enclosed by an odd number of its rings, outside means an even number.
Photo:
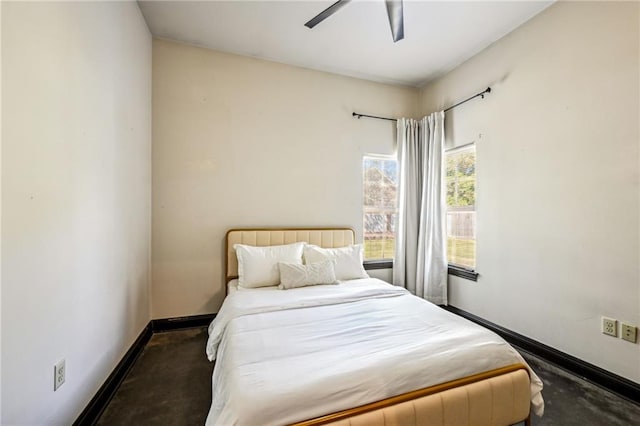
[{"label": "beige back wall behind the headboard", "polygon": [[216,312],[227,229],[351,226],[417,91],[153,42],[153,317]]}]

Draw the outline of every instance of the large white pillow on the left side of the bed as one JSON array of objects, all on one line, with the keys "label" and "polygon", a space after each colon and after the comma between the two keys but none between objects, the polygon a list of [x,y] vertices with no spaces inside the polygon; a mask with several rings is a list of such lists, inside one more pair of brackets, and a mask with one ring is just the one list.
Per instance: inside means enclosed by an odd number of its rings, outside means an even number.
[{"label": "large white pillow on the left side of the bed", "polygon": [[302,264],[305,243],[256,247],[234,244],[238,257],[238,285],[245,288],[280,284],[278,262]]}]

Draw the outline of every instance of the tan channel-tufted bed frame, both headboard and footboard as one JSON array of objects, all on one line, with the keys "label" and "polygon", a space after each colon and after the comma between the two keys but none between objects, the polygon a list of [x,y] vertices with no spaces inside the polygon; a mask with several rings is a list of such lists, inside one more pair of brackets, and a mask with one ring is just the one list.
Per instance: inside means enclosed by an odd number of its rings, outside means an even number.
[{"label": "tan channel-tufted bed frame, both headboard and footboard", "polygon": [[[355,243],[351,228],[247,228],[227,232],[226,279],[238,277],[234,244],[307,242],[324,248]],[[227,286],[225,286],[227,287]],[[295,426],[496,425],[530,426],[530,378],[515,364],[295,423]]]}]

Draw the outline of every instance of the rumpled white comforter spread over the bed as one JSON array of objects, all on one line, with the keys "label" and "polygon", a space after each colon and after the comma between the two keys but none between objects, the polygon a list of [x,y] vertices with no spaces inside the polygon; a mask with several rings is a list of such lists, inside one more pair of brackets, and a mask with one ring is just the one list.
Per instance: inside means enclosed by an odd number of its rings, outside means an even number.
[{"label": "rumpled white comforter spread over the bed", "polygon": [[207,425],[288,424],[526,364],[496,334],[377,279],[236,291],[209,326],[207,355]]}]

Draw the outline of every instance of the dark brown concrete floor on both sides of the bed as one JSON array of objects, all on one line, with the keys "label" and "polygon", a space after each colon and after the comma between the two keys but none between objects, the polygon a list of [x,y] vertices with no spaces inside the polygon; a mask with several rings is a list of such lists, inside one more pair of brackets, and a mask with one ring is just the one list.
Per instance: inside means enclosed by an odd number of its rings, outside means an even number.
[{"label": "dark brown concrete floor on both sides of the bed", "polygon": [[[202,425],[211,403],[213,363],[206,328],[155,334],[98,425]],[[522,352],[544,382],[545,415],[534,426],[640,424],[640,405]]]}]

